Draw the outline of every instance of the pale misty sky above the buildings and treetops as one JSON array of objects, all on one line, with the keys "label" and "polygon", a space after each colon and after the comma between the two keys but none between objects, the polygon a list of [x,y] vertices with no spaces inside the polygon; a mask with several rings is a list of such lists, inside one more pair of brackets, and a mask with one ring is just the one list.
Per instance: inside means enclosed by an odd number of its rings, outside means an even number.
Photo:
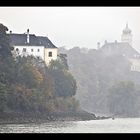
[{"label": "pale misty sky above the buildings and treetops", "polygon": [[57,46],[95,48],[120,41],[128,22],[140,52],[140,7],[0,7],[0,23],[13,33],[48,36]]}]

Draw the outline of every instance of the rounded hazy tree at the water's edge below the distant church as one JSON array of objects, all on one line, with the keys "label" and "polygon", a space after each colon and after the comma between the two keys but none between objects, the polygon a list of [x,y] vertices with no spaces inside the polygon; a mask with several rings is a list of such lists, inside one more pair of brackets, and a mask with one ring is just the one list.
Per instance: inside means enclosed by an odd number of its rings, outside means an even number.
[{"label": "rounded hazy tree at the water's edge below the distant church", "polygon": [[122,81],[110,88],[108,105],[113,115],[134,117],[138,115],[136,109],[135,86],[131,81]]}]

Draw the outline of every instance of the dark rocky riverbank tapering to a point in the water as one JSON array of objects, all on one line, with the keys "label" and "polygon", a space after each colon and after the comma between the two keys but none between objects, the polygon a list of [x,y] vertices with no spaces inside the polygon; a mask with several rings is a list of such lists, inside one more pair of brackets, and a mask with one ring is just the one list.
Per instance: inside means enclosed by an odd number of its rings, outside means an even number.
[{"label": "dark rocky riverbank tapering to a point in the water", "polygon": [[49,114],[21,114],[21,113],[2,113],[0,114],[0,124],[11,123],[44,123],[50,121],[87,121],[108,119],[109,117],[96,117],[95,114],[86,111],[63,112]]}]

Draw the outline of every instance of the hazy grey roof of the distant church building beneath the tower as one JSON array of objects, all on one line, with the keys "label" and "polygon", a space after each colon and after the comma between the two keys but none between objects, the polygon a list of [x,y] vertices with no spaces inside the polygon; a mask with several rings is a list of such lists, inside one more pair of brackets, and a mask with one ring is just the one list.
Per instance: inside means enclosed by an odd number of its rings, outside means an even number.
[{"label": "hazy grey roof of the distant church building beneath the tower", "polygon": [[105,43],[100,49],[101,52],[107,55],[125,55],[128,58],[133,58],[140,54],[131,46],[129,43],[125,42],[111,42]]}]

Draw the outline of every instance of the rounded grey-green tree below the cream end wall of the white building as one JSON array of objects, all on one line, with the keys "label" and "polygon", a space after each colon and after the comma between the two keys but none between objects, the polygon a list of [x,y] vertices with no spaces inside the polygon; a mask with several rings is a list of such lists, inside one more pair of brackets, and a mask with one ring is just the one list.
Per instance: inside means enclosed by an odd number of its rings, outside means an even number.
[{"label": "rounded grey-green tree below the cream end wall of the white building", "polygon": [[55,84],[54,94],[57,97],[69,97],[76,94],[76,81],[73,76],[65,70],[65,67],[63,67],[60,61],[51,62],[49,72]]}]

